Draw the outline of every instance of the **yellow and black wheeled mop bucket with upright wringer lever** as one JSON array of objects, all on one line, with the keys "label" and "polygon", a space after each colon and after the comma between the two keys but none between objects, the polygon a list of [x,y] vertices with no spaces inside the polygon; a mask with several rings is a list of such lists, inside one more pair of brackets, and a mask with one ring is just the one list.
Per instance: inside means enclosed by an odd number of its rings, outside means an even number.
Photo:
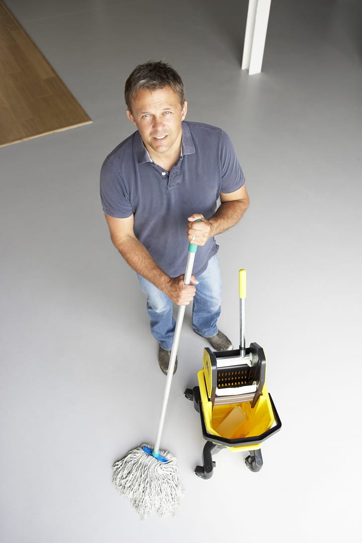
[{"label": "yellow and black wheeled mop bucket with upright wringer lever", "polygon": [[215,462],[212,453],[226,447],[233,452],[249,451],[245,463],[251,471],[263,465],[260,447],[282,424],[265,386],[265,355],[260,345],[245,348],[246,271],[239,271],[240,348],[213,352],[204,349],[204,369],[198,372],[198,387],[186,389],[200,413],[202,434],[207,440],[203,466],[195,473],[208,479]]}]

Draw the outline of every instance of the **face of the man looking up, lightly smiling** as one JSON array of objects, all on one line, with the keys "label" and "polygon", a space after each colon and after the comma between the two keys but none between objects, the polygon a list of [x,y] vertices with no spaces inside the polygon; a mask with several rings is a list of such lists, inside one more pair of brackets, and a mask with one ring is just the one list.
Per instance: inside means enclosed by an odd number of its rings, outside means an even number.
[{"label": "face of the man looking up, lightly smiling", "polygon": [[138,128],[151,157],[179,153],[181,121],[185,119],[187,102],[181,106],[179,97],[170,87],[150,91],[141,89],[132,101],[130,121]]}]

